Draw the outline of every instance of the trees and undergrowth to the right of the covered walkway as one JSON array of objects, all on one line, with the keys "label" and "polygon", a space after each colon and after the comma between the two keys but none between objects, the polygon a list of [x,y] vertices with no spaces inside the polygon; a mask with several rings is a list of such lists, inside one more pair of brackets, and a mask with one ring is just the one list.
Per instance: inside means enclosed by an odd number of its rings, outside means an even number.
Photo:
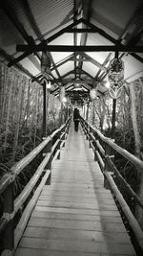
[{"label": "trees and undergrowth to the right of the covered walkway", "polygon": [[[134,99],[136,100],[137,126],[140,134],[140,144],[143,141],[143,78],[134,81]],[[135,154],[135,142],[133,132],[132,99],[130,96],[130,84],[125,85],[122,95],[116,104],[116,130],[115,143],[121,148]],[[107,94],[100,96],[90,105],[89,122],[99,128],[107,137],[112,136],[112,98]],[[142,155],[141,147],[141,155]],[[125,179],[131,184],[135,192],[140,185],[140,176],[137,170],[130,165],[121,155],[115,154],[115,165]]]}]

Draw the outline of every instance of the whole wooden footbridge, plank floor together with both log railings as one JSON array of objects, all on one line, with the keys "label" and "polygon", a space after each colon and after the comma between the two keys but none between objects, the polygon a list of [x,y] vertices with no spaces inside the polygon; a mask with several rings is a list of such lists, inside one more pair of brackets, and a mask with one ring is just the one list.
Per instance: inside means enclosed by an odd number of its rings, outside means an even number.
[{"label": "whole wooden footbridge, plank floor together with both log railings", "polygon": [[[133,201],[143,205],[115,168],[113,151],[136,168],[143,168],[139,159],[83,119],[79,130],[74,131],[70,118],[12,167],[11,175],[5,175],[0,186],[4,197],[2,255],[139,255],[143,232],[112,174],[128,187]],[[13,198],[16,176],[39,153],[41,164],[18,198]],[[21,209],[15,226],[15,216]],[[135,249],[129,233],[137,244]]]}]

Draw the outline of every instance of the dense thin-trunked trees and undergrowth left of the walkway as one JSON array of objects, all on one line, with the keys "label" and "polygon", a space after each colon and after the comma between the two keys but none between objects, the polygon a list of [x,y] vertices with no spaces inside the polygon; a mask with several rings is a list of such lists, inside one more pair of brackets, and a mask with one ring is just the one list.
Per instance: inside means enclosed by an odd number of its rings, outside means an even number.
[{"label": "dense thin-trunked trees and undergrowth left of the walkway", "polygon": [[[59,126],[60,103],[49,95],[48,134]],[[42,141],[43,88],[0,63],[0,176]],[[38,164],[37,159],[35,163]],[[33,165],[33,163],[32,163]],[[28,172],[31,174],[31,167]],[[31,175],[22,174],[15,188]],[[23,181],[22,181],[23,180]]]}]

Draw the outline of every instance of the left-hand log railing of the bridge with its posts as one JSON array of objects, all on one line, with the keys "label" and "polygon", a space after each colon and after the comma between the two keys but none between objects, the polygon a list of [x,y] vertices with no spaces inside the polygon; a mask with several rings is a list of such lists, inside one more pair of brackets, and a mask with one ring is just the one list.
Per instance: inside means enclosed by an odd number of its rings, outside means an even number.
[{"label": "left-hand log railing of the bridge with its posts", "polygon": [[[61,128],[56,129],[50,136],[43,138],[42,143],[12,166],[10,174],[4,175],[0,180],[0,197],[3,198],[3,215],[0,220],[1,255],[13,255],[44,185],[50,184],[51,164],[56,158],[60,158],[60,149],[65,145],[71,120],[72,116]],[[24,169],[38,155],[42,159],[40,165],[20,195],[14,198],[13,190],[16,177],[22,171],[24,172]],[[30,197],[32,198],[26,203]],[[24,210],[15,227],[14,219],[21,209]]]}]

